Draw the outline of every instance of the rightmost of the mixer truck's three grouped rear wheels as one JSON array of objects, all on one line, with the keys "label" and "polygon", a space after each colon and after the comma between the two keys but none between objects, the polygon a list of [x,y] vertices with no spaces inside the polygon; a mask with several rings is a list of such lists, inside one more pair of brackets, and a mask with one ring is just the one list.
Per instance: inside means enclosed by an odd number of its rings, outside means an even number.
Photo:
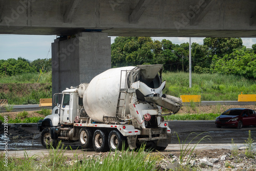
[{"label": "rightmost of the mixer truck's three grouped rear wheels", "polygon": [[124,137],[116,130],[113,130],[109,134],[108,138],[109,148],[111,151],[122,149]]}]

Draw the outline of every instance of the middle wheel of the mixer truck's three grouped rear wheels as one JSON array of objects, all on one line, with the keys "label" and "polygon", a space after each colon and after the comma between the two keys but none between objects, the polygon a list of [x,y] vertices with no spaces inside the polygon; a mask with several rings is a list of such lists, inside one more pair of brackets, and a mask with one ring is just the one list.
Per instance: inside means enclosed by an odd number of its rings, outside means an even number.
[{"label": "middle wheel of the mixer truck's three grouped rear wheels", "polygon": [[96,152],[107,152],[109,150],[106,133],[96,130],[93,134],[93,148]]}]

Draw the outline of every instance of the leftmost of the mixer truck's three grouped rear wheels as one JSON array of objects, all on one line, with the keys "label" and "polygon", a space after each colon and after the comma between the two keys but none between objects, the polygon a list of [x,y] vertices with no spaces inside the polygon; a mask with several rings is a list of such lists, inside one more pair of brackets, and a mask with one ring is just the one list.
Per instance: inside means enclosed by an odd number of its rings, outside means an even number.
[{"label": "leftmost of the mixer truck's three grouped rear wheels", "polygon": [[91,148],[93,146],[93,134],[86,127],[79,131],[79,142],[82,148]]}]

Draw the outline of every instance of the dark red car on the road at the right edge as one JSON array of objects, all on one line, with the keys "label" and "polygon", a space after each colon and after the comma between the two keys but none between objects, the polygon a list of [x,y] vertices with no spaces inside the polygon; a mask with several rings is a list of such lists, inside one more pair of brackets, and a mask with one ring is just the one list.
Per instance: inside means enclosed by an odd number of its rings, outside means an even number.
[{"label": "dark red car on the road at the right edge", "polygon": [[251,109],[231,108],[216,118],[215,125],[217,127],[237,127],[238,129],[249,125],[256,126],[256,112]]}]

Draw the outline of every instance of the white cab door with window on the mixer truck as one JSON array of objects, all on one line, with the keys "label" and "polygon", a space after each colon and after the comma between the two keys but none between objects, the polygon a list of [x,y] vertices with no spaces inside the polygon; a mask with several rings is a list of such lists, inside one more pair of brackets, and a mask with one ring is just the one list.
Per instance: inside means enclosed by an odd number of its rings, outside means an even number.
[{"label": "white cab door with window on the mixer truck", "polygon": [[60,123],[70,122],[70,94],[64,94],[60,106]]}]

